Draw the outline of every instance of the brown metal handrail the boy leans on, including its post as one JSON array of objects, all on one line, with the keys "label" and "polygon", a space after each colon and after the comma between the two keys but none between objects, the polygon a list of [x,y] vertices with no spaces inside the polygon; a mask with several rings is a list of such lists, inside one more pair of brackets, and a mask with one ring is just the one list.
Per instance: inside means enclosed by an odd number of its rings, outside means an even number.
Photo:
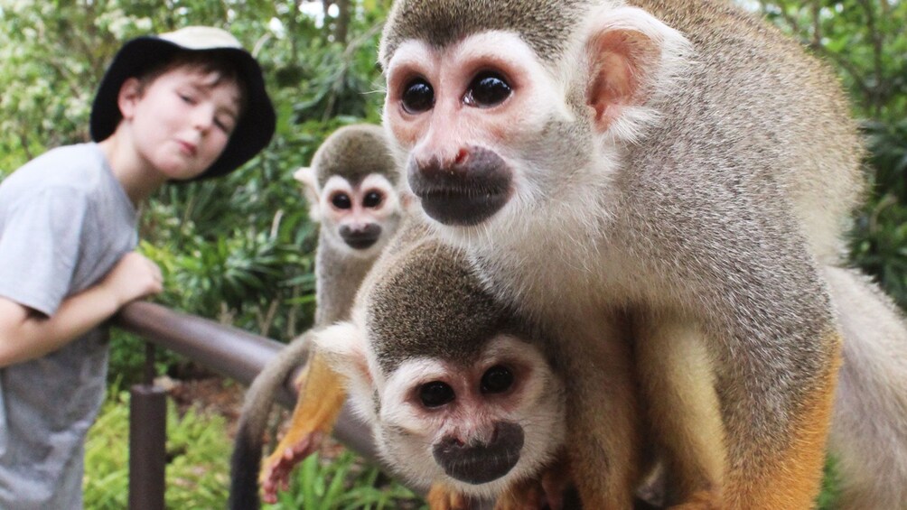
[{"label": "brown metal handrail the boy leans on, including its post", "polygon": [[[113,324],[247,385],[285,347],[281,342],[154,303],[127,305],[113,318]],[[149,363],[152,361],[153,349],[149,351]],[[145,384],[132,388],[130,509],[162,510],[166,401],[164,391],[153,386],[153,371],[146,370],[145,379]],[[288,377],[277,396],[278,402],[289,408],[296,404],[295,379]],[[381,464],[369,429],[348,405],[336,421],[334,436],[359,455]]]}]

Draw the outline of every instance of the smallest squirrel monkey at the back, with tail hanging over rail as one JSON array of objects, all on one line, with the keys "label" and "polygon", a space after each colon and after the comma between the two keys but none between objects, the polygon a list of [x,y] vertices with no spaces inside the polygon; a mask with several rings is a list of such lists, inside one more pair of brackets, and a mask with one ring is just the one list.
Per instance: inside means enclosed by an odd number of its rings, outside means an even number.
[{"label": "smallest squirrel monkey at the back, with tail hanging over rail", "polygon": [[[373,125],[336,130],[317,149],[310,167],[294,174],[304,185],[309,216],[319,222],[316,255],[316,327],[347,319],[354,296],[375,259],[398,229],[404,203],[384,131]],[[268,412],[278,389],[309,351],[307,332],[262,370],[246,394],[231,458],[230,508],[258,508],[258,476]],[[317,356],[309,363],[288,433],[261,469],[273,499],[298,460],[317,447],[340,412],[345,392]],[[316,398],[305,398],[316,392]]]}]

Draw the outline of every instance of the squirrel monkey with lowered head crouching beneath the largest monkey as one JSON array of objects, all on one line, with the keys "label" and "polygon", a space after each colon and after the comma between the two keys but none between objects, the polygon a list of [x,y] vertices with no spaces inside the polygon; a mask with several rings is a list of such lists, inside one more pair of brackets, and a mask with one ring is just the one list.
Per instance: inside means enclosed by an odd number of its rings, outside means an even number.
[{"label": "squirrel monkey with lowered head crouching beneath the largest monkey", "polygon": [[463,256],[408,228],[347,322],[314,335],[378,452],[434,510],[561,507],[563,385],[550,342],[487,293]]}]

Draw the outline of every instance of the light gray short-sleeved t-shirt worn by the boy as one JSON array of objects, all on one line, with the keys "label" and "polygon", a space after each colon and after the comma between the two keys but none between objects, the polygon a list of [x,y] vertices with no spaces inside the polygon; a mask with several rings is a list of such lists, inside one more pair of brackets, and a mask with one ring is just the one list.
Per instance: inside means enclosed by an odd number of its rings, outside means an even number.
[{"label": "light gray short-sleeved t-shirt worn by the boy", "polygon": [[[0,295],[46,315],[137,243],[136,211],[93,143],[0,182]],[[107,328],[0,369],[0,508],[82,508],[83,441],[104,397]]]}]

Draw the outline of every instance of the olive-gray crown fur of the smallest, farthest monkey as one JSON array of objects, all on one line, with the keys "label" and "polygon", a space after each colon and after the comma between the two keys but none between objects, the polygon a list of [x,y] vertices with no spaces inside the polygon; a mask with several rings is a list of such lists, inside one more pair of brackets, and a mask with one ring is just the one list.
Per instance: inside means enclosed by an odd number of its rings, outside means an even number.
[{"label": "olive-gray crown fur of the smallest, farthest monkey", "polygon": [[334,131],[316,151],[312,167],[322,188],[331,176],[341,176],[354,185],[370,174],[383,175],[392,184],[396,184],[399,176],[385,131],[371,124]]}]

